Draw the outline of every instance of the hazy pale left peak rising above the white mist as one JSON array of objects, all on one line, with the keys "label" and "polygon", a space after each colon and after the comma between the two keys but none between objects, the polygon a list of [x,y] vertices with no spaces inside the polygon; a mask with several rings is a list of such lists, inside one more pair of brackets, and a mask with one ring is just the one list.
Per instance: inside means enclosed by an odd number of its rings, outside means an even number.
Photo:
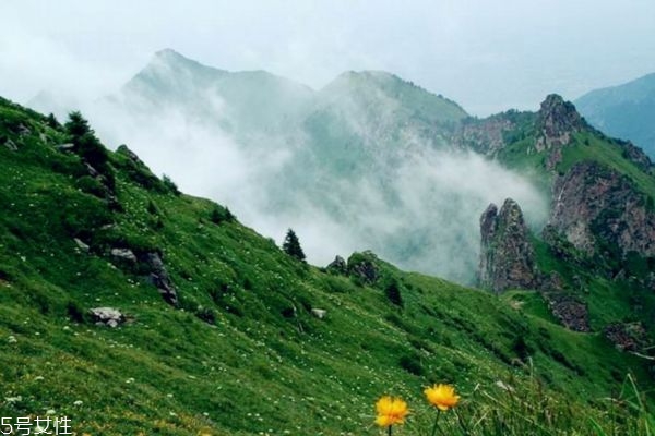
[{"label": "hazy pale left peak rising above the white mist", "polygon": [[183,111],[238,134],[278,130],[298,116],[312,94],[264,71],[230,73],[165,49],[111,98],[140,111]]}]

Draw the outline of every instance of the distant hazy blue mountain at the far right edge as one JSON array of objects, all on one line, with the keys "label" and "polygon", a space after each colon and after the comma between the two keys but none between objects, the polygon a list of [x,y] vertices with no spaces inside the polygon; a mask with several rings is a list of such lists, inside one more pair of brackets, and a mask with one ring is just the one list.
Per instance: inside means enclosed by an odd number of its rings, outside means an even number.
[{"label": "distant hazy blue mountain at the far right edge", "polygon": [[632,141],[655,157],[655,73],[592,90],[575,100],[575,106],[595,128]]}]

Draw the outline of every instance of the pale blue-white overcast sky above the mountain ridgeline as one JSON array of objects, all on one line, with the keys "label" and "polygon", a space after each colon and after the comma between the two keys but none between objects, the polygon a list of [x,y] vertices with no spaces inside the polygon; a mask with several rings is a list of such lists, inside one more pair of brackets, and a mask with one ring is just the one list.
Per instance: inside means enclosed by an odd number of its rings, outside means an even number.
[{"label": "pale blue-white overcast sky above the mountain ridgeline", "polygon": [[0,96],[116,92],[172,48],[321,88],[385,70],[475,116],[655,72],[653,0],[2,0]]}]

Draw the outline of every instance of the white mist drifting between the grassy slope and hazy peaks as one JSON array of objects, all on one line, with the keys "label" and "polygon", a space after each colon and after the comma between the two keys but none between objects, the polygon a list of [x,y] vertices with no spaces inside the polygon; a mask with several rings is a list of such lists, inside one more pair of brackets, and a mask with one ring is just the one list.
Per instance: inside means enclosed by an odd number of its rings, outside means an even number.
[{"label": "white mist drifting between the grassy slope and hazy peaks", "polygon": [[[547,199],[528,178],[415,136],[406,137],[412,146],[393,168],[372,161],[370,171],[340,179],[319,162],[307,168],[302,185],[294,185],[289,169],[297,171],[311,148],[302,123],[266,135],[226,131],[222,125],[234,128],[238,120],[219,96],[204,98],[215,122],[175,107],[131,110],[111,99],[88,104],[83,112],[110,148],[127,144],[183,192],[228,206],[278,244],[293,228],[308,262],[318,266],[371,250],[404,269],[469,284],[478,265],[479,216],[489,203],[511,197],[535,231],[546,222]],[[369,136],[367,121],[356,117],[364,116],[348,110],[349,123]]]}]

